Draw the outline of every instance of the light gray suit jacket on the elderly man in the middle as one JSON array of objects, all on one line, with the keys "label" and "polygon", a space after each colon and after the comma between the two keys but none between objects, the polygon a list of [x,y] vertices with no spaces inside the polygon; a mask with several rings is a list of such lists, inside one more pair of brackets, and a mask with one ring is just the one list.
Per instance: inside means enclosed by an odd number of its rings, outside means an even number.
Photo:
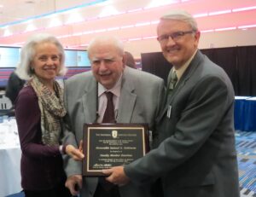
[{"label": "light gray suit jacket on the elderly man in the middle", "polygon": [[[92,72],[80,73],[65,82],[65,104],[69,123],[64,142],[77,146],[83,137],[84,123],[96,121],[96,79]],[[160,105],[165,94],[164,82],[147,72],[125,67],[119,98],[118,123],[148,123],[154,129],[155,119],[160,113]],[[65,159],[67,176],[81,174],[81,163]],[[82,196],[94,194],[98,183],[96,177],[86,177],[83,181]],[[130,183],[119,188],[122,197],[150,196],[149,188]]]}]

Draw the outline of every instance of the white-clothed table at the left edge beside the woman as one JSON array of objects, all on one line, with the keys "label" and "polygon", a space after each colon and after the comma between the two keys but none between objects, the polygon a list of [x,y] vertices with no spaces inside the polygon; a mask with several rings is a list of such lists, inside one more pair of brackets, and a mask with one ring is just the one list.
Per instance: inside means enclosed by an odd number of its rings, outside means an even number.
[{"label": "white-clothed table at the left edge beside the woman", "polygon": [[0,196],[15,194],[20,185],[20,146],[0,146]]}]

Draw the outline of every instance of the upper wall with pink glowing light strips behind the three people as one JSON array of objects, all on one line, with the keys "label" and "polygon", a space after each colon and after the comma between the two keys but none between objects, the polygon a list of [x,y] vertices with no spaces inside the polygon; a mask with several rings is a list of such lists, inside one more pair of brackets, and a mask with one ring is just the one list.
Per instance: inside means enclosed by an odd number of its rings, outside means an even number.
[{"label": "upper wall with pink glowing light strips behind the three people", "polygon": [[[9,0],[12,2],[11,8],[14,1]],[[68,8],[71,2],[85,1],[55,2],[55,10],[59,10]],[[160,5],[153,6],[155,3]],[[148,7],[150,4],[152,7]],[[65,6],[59,7],[61,5]],[[51,7],[53,6],[49,4],[49,8]],[[38,7],[34,8],[37,9]],[[156,26],[160,16],[171,9],[185,9],[195,15],[199,29],[204,32],[201,35],[200,48],[255,44],[255,0],[215,0],[211,3],[207,0],[108,0],[0,26],[0,43],[22,46],[32,34],[49,32],[59,38],[68,49],[86,49],[91,38],[110,34],[124,40],[126,50],[139,57],[141,53],[160,51],[156,41]],[[248,30],[241,31],[245,27]],[[219,29],[225,29],[225,32],[218,32]]]}]

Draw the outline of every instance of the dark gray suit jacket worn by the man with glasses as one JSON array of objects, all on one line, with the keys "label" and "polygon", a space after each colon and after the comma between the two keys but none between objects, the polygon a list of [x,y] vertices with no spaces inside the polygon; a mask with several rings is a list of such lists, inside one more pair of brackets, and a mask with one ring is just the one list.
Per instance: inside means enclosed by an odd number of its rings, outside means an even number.
[{"label": "dark gray suit jacket worn by the man with glasses", "polygon": [[136,184],[161,177],[166,197],[238,197],[230,78],[198,51],[173,91],[157,124],[159,147],[125,173]]}]

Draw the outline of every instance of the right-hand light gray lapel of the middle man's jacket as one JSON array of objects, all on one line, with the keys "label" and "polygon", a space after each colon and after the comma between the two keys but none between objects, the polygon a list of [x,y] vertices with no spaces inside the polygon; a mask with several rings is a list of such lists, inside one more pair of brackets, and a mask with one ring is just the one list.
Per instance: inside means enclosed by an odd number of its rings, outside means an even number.
[{"label": "right-hand light gray lapel of the middle man's jacket", "polygon": [[137,95],[134,93],[135,85],[131,81],[132,76],[129,67],[125,67],[122,78],[121,94],[119,100],[118,123],[131,123],[131,116],[136,103]]}]

